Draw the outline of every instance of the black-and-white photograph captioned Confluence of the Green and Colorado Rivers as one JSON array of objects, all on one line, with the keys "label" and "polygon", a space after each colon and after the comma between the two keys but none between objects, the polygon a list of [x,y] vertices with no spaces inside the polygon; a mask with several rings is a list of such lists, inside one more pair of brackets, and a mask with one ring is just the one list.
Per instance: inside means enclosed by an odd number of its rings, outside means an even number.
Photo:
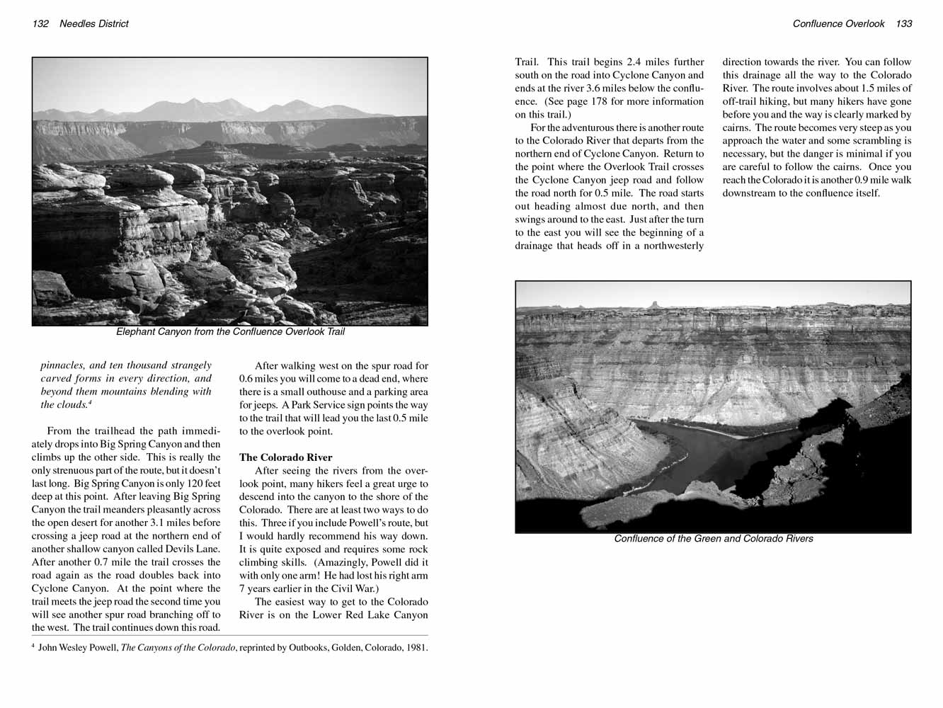
[{"label": "black-and-white photograph captioned Confluence of the Green and Colorado Rivers", "polygon": [[518,533],[910,533],[907,281],[519,281]]}]

